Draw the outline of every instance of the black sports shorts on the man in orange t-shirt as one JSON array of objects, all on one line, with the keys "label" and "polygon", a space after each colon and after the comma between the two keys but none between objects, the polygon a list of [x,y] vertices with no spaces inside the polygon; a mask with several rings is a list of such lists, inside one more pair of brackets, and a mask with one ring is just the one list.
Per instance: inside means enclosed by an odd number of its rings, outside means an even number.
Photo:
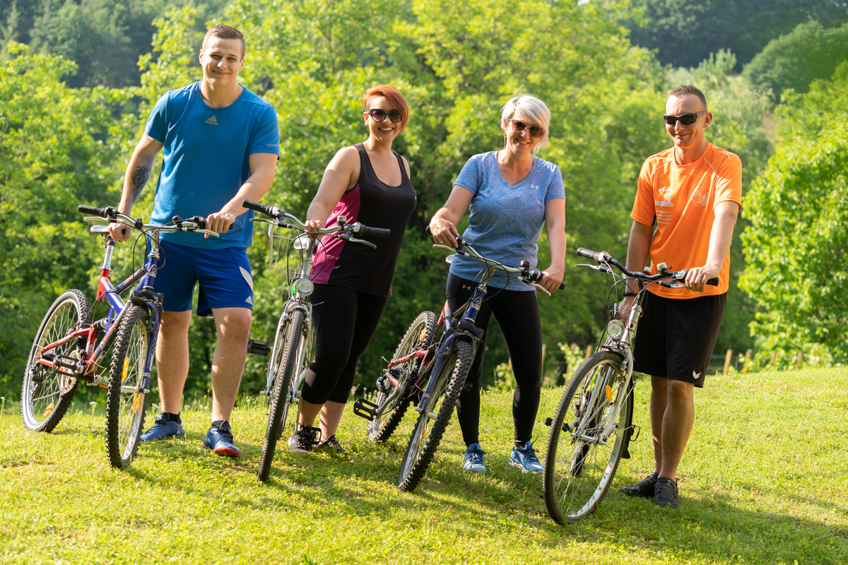
[{"label": "black sports shorts on the man in orange t-shirt", "polygon": [[680,300],[649,292],[633,344],[633,370],[704,388],[727,297]]}]

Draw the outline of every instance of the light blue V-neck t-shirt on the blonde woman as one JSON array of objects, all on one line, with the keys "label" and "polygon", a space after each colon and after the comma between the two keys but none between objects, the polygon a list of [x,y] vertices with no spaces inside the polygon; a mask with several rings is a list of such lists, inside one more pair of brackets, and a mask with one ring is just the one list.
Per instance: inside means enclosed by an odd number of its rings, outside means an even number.
[{"label": "light blue V-neck t-shirt on the blonde woman", "polygon": [[[468,159],[454,181],[474,197],[471,216],[462,238],[484,257],[518,267],[529,261],[538,263],[538,238],[544,225],[544,203],[565,198],[560,168],[554,163],[533,158],[533,169],[516,186],[510,186],[498,168],[498,152],[481,153]],[[456,255],[450,272],[467,280],[475,280],[485,265],[477,259]],[[495,271],[489,285],[510,291],[533,291],[512,275]],[[479,278],[477,278],[479,280]]]}]

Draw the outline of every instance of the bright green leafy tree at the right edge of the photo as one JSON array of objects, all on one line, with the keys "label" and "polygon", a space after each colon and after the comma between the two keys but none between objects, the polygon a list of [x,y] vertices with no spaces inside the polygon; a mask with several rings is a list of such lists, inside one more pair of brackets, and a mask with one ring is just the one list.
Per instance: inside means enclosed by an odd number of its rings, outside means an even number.
[{"label": "bright green leafy tree at the right edge of the photo", "polygon": [[848,358],[848,64],[810,91],[785,93],[779,141],[748,193],[740,285],[762,305],[753,328],[764,348],[825,346]]}]

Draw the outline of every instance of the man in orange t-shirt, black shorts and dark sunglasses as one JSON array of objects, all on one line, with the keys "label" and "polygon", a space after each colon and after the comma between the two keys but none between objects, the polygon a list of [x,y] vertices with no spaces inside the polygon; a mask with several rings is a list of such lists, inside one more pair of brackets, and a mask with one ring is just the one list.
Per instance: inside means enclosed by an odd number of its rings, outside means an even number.
[{"label": "man in orange t-shirt, black shorts and dark sunglasses", "polygon": [[[666,130],[674,147],[648,158],[639,173],[628,244],[628,269],[656,265],[688,269],[686,288],[650,285],[633,345],[633,370],[650,374],[650,429],[654,473],[621,489],[678,507],[677,471],[695,421],[695,387],[716,346],[728,292],[730,240],[742,205],[742,163],[706,141],[712,121],[706,97],[678,86],[666,102]],[[656,231],[653,229],[656,218]],[[706,281],[718,277],[718,285]],[[638,287],[628,280],[621,305],[627,319]]]}]

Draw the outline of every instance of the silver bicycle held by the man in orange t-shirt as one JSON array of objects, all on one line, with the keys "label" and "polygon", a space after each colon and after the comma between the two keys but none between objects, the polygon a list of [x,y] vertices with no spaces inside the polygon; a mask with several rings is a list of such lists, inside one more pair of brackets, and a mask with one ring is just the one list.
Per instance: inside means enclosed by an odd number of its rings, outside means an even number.
[{"label": "silver bicycle held by the man in orange t-shirt", "polygon": [[[639,292],[626,324],[618,319],[616,301],[601,334],[603,345],[574,371],[554,418],[545,421],[550,426],[550,437],[542,480],[544,501],[556,523],[574,523],[594,512],[612,484],[618,463],[630,457],[630,441],[638,439],[640,432],[639,426],[633,425],[632,347],[641,304],[650,285],[684,287],[680,281],[688,272],[672,271],[660,263],[657,274],[650,274],[648,269],[637,273],[607,252],[583,247],[577,249],[577,255],[599,264],[576,267],[612,274],[610,292],[625,280],[613,267],[637,280]],[[718,279],[708,280],[707,284],[718,285]]]}]

